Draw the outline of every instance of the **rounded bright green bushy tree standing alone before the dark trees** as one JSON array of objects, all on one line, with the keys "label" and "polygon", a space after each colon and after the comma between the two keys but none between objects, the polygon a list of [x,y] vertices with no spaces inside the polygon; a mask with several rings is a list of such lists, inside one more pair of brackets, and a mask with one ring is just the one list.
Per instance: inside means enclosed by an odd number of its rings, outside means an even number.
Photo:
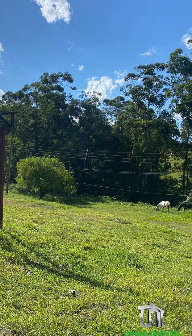
[{"label": "rounded bright green bushy tree standing alone before the dark trees", "polygon": [[31,157],[20,160],[16,181],[22,191],[35,192],[42,199],[47,193],[73,194],[75,180],[57,158]]}]

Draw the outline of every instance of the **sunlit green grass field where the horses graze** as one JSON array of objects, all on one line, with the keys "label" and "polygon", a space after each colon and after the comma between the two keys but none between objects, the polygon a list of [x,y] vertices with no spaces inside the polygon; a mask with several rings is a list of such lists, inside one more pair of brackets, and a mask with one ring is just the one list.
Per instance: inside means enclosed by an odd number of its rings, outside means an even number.
[{"label": "sunlit green grass field where the horses graze", "polygon": [[141,328],[138,306],[149,302],[165,311],[164,330],[192,335],[192,211],[154,210],[6,196],[0,335],[124,335]]}]

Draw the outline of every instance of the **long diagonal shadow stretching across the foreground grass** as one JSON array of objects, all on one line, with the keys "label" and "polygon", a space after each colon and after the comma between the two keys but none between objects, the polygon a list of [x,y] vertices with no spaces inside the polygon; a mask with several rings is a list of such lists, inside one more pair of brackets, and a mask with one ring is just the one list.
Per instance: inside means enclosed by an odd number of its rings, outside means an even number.
[{"label": "long diagonal shadow stretching across the foreground grass", "polygon": [[[21,253],[15,246],[16,244],[20,244],[22,247],[24,247],[26,249],[25,253]],[[68,269],[68,267],[70,267],[71,265],[67,266],[67,265],[58,265],[56,263],[54,263],[52,260],[50,260],[47,256],[43,256],[41,255],[39,252],[35,251],[34,249],[30,248],[29,245],[26,245],[25,243],[23,243],[18,237],[7,233],[7,237],[3,237],[3,235],[0,236],[0,247],[2,250],[7,251],[7,252],[13,252],[17,257],[19,256],[22,260],[23,260],[23,266],[32,266],[32,267],[36,267],[38,269],[41,270],[46,270],[47,272],[51,273],[51,274],[56,274],[59,277],[64,277],[65,279],[68,280],[76,280],[76,281],[80,281],[82,283],[85,284],[89,284],[91,285],[91,287],[93,288],[101,288],[104,290],[111,290],[111,291],[118,291],[121,293],[125,293],[125,292],[129,292],[131,294],[134,295],[138,295],[138,293],[133,292],[131,289],[129,288],[118,288],[115,287],[113,288],[111,285],[106,284],[103,281],[98,281],[95,279],[92,279],[89,276],[86,276],[82,273],[78,273],[78,272],[73,272],[70,269]],[[28,253],[27,253],[28,252]],[[33,260],[33,258],[30,258],[29,254],[35,254],[38,258],[39,261],[35,262]],[[32,256],[31,256],[32,257]],[[11,260],[12,263],[14,264],[21,264],[17,261],[13,261]],[[79,265],[82,268],[82,262]],[[72,266],[71,266],[72,267]]]}]

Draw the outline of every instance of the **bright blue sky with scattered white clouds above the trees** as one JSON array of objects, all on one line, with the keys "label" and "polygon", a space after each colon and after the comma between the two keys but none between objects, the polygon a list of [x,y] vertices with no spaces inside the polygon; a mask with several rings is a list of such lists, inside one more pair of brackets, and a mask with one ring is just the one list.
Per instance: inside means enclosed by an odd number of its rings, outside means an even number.
[{"label": "bright blue sky with scattered white clouds above the trees", "polygon": [[176,48],[191,55],[187,0],[6,0],[0,3],[0,97],[68,71],[78,93],[119,94],[134,66],[166,62]]}]

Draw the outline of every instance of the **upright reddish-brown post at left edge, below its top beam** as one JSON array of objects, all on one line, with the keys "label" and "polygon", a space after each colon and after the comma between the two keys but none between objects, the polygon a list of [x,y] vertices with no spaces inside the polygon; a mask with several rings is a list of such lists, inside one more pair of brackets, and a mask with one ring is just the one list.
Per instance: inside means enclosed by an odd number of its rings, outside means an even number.
[{"label": "upright reddish-brown post at left edge, below its top beam", "polygon": [[0,129],[0,229],[3,228],[3,187],[5,163],[5,129]]}]

